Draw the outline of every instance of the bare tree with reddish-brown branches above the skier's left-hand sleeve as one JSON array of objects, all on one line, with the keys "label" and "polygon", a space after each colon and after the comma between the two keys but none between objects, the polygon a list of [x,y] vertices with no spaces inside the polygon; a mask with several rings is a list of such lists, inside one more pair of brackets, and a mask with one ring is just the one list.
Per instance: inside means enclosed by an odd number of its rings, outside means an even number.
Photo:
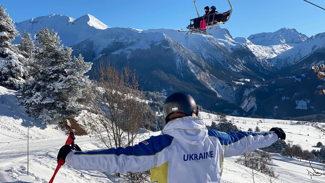
[{"label": "bare tree with reddish-brown branches above the skier's left-hand sleeve", "polygon": [[[88,126],[94,138],[107,148],[133,146],[146,138],[151,112],[138,91],[135,73],[128,67],[119,71],[116,66],[100,63],[94,70],[93,85],[87,88],[85,105],[88,109]],[[149,135],[148,135],[149,137]],[[116,173],[119,176],[119,173]],[[145,173],[132,174],[138,179]]]}]

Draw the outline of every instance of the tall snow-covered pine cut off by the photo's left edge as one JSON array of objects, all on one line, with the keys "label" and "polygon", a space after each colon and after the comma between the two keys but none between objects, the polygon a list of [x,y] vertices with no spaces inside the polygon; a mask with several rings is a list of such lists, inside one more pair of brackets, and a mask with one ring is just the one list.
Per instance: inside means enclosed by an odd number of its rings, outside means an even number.
[{"label": "tall snow-covered pine cut off by the photo's left edge", "polygon": [[6,8],[0,5],[0,85],[10,89],[17,89],[24,82],[24,57],[11,43],[18,35]]}]

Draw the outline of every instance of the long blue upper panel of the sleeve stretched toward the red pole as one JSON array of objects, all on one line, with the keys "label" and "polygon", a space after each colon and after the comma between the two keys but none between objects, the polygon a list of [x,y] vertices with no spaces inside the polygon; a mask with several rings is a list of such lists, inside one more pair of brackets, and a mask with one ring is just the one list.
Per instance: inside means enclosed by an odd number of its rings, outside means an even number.
[{"label": "long blue upper panel of the sleeve stretched toward the red pole", "polygon": [[[164,134],[158,136],[151,136],[149,139],[144,140],[146,143],[140,142],[134,146],[126,148],[110,148],[103,150],[94,150],[81,152],[77,151],[75,155],[126,155],[126,156],[151,156],[162,151],[164,148],[171,145],[174,137]],[[146,145],[147,144],[147,145]]]}]

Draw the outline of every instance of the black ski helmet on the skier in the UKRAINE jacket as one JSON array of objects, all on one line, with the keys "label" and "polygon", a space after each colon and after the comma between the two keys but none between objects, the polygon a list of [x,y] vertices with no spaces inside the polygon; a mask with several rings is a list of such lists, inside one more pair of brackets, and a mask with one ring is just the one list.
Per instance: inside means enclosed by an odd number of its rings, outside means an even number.
[{"label": "black ski helmet on the skier in the UKRAINE jacket", "polygon": [[181,112],[187,116],[192,116],[194,111],[196,111],[196,115],[198,115],[199,110],[194,99],[184,92],[170,94],[163,105],[163,116],[166,124],[169,122],[168,116],[170,114]]}]

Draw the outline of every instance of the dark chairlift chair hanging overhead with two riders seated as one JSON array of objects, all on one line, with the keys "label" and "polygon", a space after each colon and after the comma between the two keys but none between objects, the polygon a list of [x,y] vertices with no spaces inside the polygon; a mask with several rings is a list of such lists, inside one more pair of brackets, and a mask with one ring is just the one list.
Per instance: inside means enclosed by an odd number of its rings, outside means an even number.
[{"label": "dark chairlift chair hanging overhead with two riders seated", "polygon": [[[230,0],[227,0],[228,3],[229,3],[229,6],[230,6],[230,10],[228,10],[227,12],[224,12],[224,13],[214,13],[214,14],[208,14],[208,15],[205,15],[205,16],[201,16],[200,17],[200,13],[199,13],[199,10],[196,6],[196,0],[193,0],[194,1],[194,6],[195,6],[195,9],[196,9],[196,12],[198,14],[198,18],[199,19],[202,19],[207,17],[208,21],[207,21],[207,24],[206,24],[206,29],[207,28],[212,28],[214,26],[217,26],[217,25],[222,25],[222,24],[225,24],[227,21],[229,21],[230,19],[230,16],[231,16],[231,13],[232,13],[232,5],[230,3]],[[193,23],[194,23],[194,20],[198,19],[198,18],[194,18],[194,19],[191,19],[190,20],[190,24],[189,26],[187,27],[188,31],[185,31],[183,29],[181,30],[178,30],[179,32],[186,32],[187,34],[190,33],[198,33],[198,34],[208,34],[208,35],[212,35],[210,33],[207,33],[205,31],[202,31],[202,30],[199,30],[197,28],[195,28],[193,26]],[[193,23],[192,23],[193,22]],[[210,30],[209,29],[209,30]]]}]

